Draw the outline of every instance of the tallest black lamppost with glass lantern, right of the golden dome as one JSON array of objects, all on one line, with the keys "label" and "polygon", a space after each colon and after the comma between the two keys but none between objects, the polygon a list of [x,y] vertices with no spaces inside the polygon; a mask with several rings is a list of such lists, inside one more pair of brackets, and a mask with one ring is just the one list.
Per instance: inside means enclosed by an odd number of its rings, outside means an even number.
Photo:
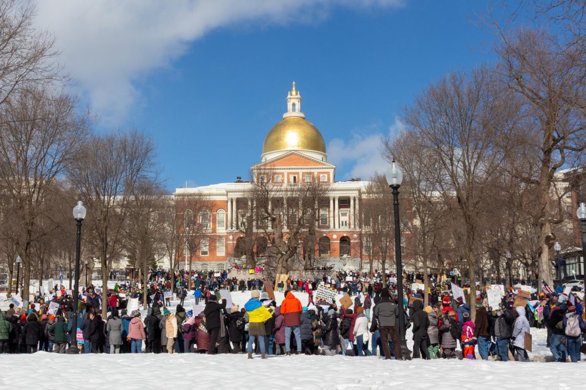
[{"label": "tallest black lamppost with glass lantern, right of the golden dome", "polygon": [[[393,189],[393,211],[395,217],[395,260],[397,262],[397,303],[399,308],[398,315],[398,332],[401,351],[404,359],[411,359],[411,351],[407,348],[405,339],[405,307],[403,305],[403,263],[401,263],[401,226],[399,224],[399,188],[403,181],[403,172],[397,166],[393,159],[391,168],[386,174],[387,183]],[[395,346],[396,347],[396,346]]]}]

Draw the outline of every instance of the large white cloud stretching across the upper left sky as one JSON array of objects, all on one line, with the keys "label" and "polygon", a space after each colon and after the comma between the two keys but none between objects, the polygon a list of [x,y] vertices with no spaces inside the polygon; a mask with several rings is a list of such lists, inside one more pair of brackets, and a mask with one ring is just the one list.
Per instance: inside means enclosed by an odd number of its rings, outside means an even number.
[{"label": "large white cloud stretching across the upper left sky", "polygon": [[396,7],[403,0],[52,0],[36,25],[56,37],[78,92],[105,118],[124,118],[138,85],[169,67],[207,32],[243,22],[287,24],[324,18],[329,8]]}]

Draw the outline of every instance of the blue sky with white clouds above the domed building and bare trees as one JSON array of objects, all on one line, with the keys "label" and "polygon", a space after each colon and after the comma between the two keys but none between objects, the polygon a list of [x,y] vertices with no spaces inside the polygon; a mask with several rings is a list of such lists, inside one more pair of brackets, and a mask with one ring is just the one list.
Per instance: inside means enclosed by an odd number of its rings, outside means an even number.
[{"label": "blue sky with white clouds above the domed building and bare trees", "polygon": [[474,23],[486,1],[62,3],[39,3],[38,24],[56,35],[72,93],[100,131],[151,134],[169,189],[247,177],[292,81],[337,180],[369,178],[386,169],[379,140],[399,131],[401,106],[493,58]]}]

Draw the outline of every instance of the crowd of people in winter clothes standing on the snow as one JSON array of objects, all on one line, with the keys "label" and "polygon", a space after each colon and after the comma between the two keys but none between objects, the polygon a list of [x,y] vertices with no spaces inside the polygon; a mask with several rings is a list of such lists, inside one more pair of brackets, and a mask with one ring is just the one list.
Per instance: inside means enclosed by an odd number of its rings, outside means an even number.
[{"label": "crowd of people in winter clothes standing on the snow", "polygon": [[[0,312],[0,353],[64,353],[69,344],[77,342],[84,353],[246,353],[248,358],[254,353],[261,358],[342,354],[386,359],[490,357],[528,361],[527,334],[536,327],[547,329],[547,346],[556,361],[575,362],[580,360],[586,332],[586,310],[579,292],[564,294],[561,288],[552,291],[546,286],[539,295],[532,294],[523,304],[516,304],[517,292],[510,289],[493,308],[485,289],[473,300],[476,310],[472,318],[467,296],[454,299],[448,281],[430,279],[427,302],[421,289],[406,287],[404,291],[404,325],[413,334],[412,355],[404,356],[392,275],[389,287],[383,287],[380,278],[359,272],[339,272],[306,281],[284,280],[277,284],[277,290],[285,292],[280,305],[269,295],[272,290],[265,291],[260,279],[228,278],[226,271],[175,271],[173,277],[172,286],[171,271],[151,272],[145,294],[139,281],[115,285],[107,291],[92,285],[83,288],[77,302],[83,340],[72,340],[74,303],[63,287],[55,287],[49,297],[39,296],[26,312],[11,306]],[[354,305],[315,305],[312,294],[320,284],[354,296]],[[236,290],[250,291],[250,300],[242,308],[226,307],[221,294]],[[201,303],[200,312],[183,308],[188,291],[193,291],[196,305]],[[308,293],[308,302],[302,303],[293,292]],[[105,319],[101,317],[103,294],[108,312]],[[175,312],[169,310],[173,294],[180,301]],[[147,299],[144,319],[138,308],[127,311],[128,300],[134,298]],[[58,306],[53,312],[49,312],[51,302]],[[461,355],[456,355],[458,346]]]}]

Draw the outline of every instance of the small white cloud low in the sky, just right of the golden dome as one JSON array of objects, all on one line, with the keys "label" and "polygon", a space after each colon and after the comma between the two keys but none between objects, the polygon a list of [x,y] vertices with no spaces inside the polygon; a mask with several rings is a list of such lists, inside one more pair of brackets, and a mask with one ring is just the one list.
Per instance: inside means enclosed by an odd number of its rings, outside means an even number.
[{"label": "small white cloud low in the sky, just right of the golden dome", "polygon": [[388,136],[396,137],[403,129],[404,124],[395,118],[387,133],[376,131],[379,126],[370,126],[369,132],[354,132],[349,140],[333,139],[328,144],[328,161],[347,173],[340,179],[360,177],[369,180],[375,173],[386,172],[389,164],[381,156],[381,139]]}]

